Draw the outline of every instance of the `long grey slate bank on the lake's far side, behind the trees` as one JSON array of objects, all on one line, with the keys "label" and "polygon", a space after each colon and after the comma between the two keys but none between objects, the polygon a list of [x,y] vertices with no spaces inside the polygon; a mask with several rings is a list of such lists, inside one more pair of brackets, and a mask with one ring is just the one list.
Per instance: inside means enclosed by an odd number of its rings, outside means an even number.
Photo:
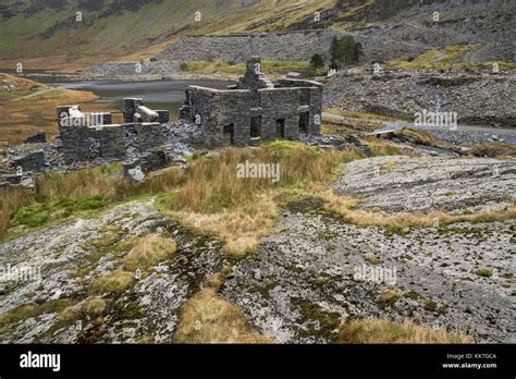
[{"label": "long grey slate bank on the lake's far side, behind the trees", "polygon": [[[331,40],[343,37],[343,32],[311,29],[288,33],[255,33],[210,36],[185,36],[174,41],[150,62],[153,73],[180,71],[180,64],[188,61],[216,61],[242,63],[249,57],[259,56],[268,61],[308,62],[315,53],[329,57]],[[428,47],[398,40],[389,44],[381,38],[353,34],[363,44],[365,60],[385,61],[402,54],[417,56]]]}]

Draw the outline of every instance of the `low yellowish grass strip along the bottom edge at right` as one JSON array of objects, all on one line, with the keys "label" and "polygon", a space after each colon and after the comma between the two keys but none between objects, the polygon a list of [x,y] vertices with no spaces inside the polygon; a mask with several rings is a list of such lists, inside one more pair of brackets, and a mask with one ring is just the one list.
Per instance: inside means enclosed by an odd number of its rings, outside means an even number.
[{"label": "low yellowish grass strip along the bottom edge at right", "polygon": [[352,320],[341,329],[343,343],[471,343],[463,332],[432,329],[411,321],[367,318]]}]

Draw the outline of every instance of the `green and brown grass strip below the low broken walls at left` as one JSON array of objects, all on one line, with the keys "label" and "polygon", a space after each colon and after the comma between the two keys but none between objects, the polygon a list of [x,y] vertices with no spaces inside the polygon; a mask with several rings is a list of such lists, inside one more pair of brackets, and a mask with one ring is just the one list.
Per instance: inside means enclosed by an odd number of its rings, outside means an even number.
[{"label": "green and brown grass strip below the low broken walls at left", "polygon": [[[123,180],[121,169],[121,163],[112,163],[37,178],[34,198],[12,201],[15,204],[4,210],[9,221],[0,229],[0,236],[19,236],[72,217],[91,217],[109,206],[167,192],[180,181],[179,175],[171,174],[180,169],[170,169],[163,171],[164,175],[153,175],[143,184],[131,184]],[[5,196],[14,199],[20,194],[5,193]],[[14,232],[10,234],[10,231]]]}]

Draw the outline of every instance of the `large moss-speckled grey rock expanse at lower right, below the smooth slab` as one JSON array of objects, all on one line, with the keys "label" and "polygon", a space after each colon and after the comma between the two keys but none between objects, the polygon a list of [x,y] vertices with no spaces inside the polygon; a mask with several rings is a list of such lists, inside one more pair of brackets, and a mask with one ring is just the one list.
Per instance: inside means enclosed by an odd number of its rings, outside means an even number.
[{"label": "large moss-speckled grey rock expanse at lower right, below the smooth slab", "polygon": [[[515,269],[514,222],[411,229],[402,236],[297,204],[280,223],[282,231],[243,260],[222,291],[279,342],[342,341],[341,322],[365,317],[408,318],[466,331],[476,341],[514,335],[514,279],[507,276]],[[478,276],[482,267],[492,268],[492,277]],[[381,274],[367,280],[357,270]],[[395,296],[382,301],[389,290]]]}]

